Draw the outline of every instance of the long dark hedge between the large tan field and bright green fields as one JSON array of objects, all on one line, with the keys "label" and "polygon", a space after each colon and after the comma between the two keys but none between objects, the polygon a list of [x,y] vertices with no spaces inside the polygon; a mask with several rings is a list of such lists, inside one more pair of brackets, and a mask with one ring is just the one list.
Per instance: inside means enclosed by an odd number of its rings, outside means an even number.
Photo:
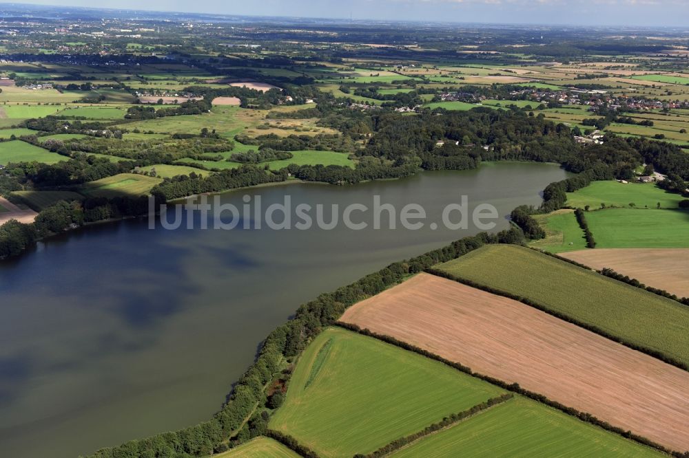
[{"label": "long dark hedge between the large tan field and bright green fields", "polygon": [[369,329],[362,329],[358,325],[353,325],[351,323],[344,323],[342,321],[338,321],[335,323],[335,325],[342,327],[344,329],[348,329],[349,331],[356,332],[358,334],[361,334],[362,336],[369,336],[372,338],[376,338],[378,340],[382,340],[383,342],[387,342],[391,345],[395,345],[395,347],[400,347],[401,349],[408,350],[408,351],[413,351],[414,353],[418,353],[421,356],[425,356],[426,358],[431,358],[432,360],[436,360],[438,362],[442,362],[443,364],[446,364],[449,367],[452,367],[453,369],[457,369],[457,371],[460,371],[462,373],[466,373],[468,375],[471,375],[475,378],[480,378],[481,380],[484,380],[485,382],[489,382],[491,384],[494,384],[495,386],[500,386],[502,389],[506,389],[507,391],[511,391],[512,393],[517,393],[522,396],[528,397],[529,399],[535,400],[537,402],[541,402],[542,404],[546,404],[547,406],[556,408],[558,411],[561,411],[563,413],[566,413],[567,415],[570,415],[572,417],[576,417],[580,419],[582,422],[590,423],[595,426],[599,426],[600,428],[603,428],[604,430],[609,431],[610,433],[615,433],[617,435],[621,435],[622,437],[625,437],[626,439],[633,440],[637,442],[638,444],[644,445],[644,446],[649,446],[652,448],[655,448],[656,450],[659,450],[661,452],[667,453],[668,455],[672,455],[674,457],[686,457],[689,456],[689,452],[677,452],[675,450],[670,450],[669,448],[666,448],[664,446],[661,446],[661,444],[657,444],[656,442],[647,439],[646,437],[637,435],[635,433],[632,433],[629,430],[624,430],[622,428],[619,428],[617,426],[613,426],[609,424],[608,422],[605,422],[604,420],[601,420],[594,415],[591,415],[590,413],[578,411],[577,409],[573,407],[568,407],[565,406],[564,404],[561,404],[557,401],[553,401],[551,399],[548,399],[548,397],[535,393],[534,391],[529,391],[527,389],[524,389],[520,386],[518,383],[511,383],[508,384],[507,382],[504,382],[503,380],[493,378],[490,375],[484,375],[482,373],[474,372],[471,370],[471,368],[464,366],[460,362],[454,362],[451,360],[448,360],[446,358],[443,358],[440,355],[437,355],[435,353],[431,353],[431,351],[422,349],[420,347],[416,347],[415,345],[410,344],[409,342],[404,342],[403,340],[398,340],[392,336],[387,336],[386,334],[378,334],[376,332],[373,332]]}]

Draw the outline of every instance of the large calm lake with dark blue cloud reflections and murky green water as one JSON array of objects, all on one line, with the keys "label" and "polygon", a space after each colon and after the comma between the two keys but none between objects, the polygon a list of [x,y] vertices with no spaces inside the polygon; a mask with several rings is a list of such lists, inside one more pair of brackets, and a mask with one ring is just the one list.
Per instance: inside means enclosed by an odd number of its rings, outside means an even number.
[{"label": "large calm lake with dark blue cloud reflections and murky green water", "polygon": [[[493,204],[496,230],[566,173],[483,164],[351,187],[236,191],[263,205],[351,203],[372,195],[428,221],[467,195]],[[159,225],[158,225],[159,226]],[[271,329],[321,292],[476,230],[156,230],[96,226],[0,263],[0,456],[75,457],[209,418]]]}]

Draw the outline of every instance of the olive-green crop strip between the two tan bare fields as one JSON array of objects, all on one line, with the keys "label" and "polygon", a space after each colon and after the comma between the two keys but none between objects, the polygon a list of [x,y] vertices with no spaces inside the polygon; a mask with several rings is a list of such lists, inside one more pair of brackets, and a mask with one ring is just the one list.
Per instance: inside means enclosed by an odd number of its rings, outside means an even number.
[{"label": "olive-green crop strip between the two tan bare fields", "polygon": [[484,246],[438,268],[689,364],[686,305],[520,246]]}]

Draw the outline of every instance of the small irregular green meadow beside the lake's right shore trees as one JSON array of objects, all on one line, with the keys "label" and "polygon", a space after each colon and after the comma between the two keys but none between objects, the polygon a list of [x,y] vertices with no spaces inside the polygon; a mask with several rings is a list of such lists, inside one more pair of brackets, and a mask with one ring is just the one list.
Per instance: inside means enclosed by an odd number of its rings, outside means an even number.
[{"label": "small irregular green meadow beside the lake's right shore trees", "polygon": [[573,210],[557,210],[548,215],[535,215],[534,218],[546,231],[546,238],[533,241],[534,248],[559,253],[573,250],[584,250],[586,239],[579,227]]}]

